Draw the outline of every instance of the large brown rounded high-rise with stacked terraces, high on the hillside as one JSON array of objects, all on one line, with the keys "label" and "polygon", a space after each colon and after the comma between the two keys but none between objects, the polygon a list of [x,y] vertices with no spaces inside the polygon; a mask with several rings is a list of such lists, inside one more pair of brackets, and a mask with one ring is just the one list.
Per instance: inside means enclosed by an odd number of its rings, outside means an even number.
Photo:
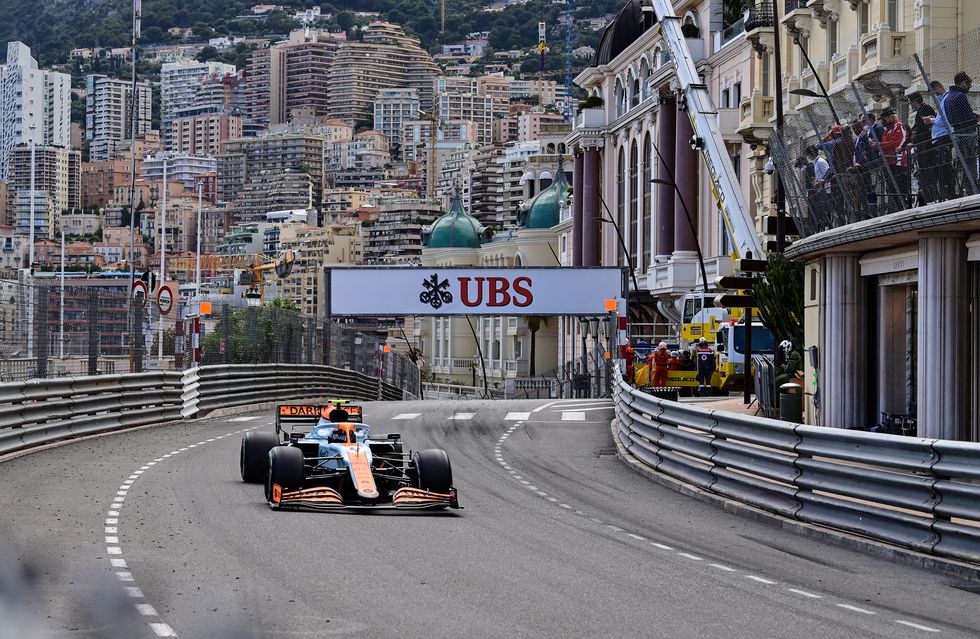
[{"label": "large brown rounded high-rise with stacked terraces, high on the hillside", "polygon": [[415,89],[420,108],[431,109],[437,71],[418,39],[397,25],[372,22],[362,40],[337,48],[327,85],[330,115],[354,125],[370,123],[378,91],[386,88]]}]

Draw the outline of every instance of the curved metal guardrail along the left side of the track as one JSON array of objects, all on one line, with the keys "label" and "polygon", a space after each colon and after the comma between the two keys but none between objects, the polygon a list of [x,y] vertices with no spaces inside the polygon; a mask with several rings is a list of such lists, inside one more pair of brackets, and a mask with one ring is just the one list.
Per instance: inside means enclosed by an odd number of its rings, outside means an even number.
[{"label": "curved metal guardrail along the left side of the track", "polygon": [[397,401],[414,395],[329,366],[203,366],[0,384],[0,454],[82,435],[203,417],[290,398]]}]

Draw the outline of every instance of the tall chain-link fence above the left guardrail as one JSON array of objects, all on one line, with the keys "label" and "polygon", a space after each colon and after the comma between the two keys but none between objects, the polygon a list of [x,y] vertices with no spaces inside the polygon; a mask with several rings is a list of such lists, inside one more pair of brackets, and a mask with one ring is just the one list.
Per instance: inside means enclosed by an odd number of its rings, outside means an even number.
[{"label": "tall chain-link fence above the left guardrail", "polygon": [[196,303],[178,300],[161,316],[155,304],[130,306],[129,290],[128,278],[74,279],[64,287],[58,278],[0,278],[0,382],[211,364],[326,364],[418,392],[418,366],[384,352],[381,324],[328,324],[277,303],[213,304],[196,316]]}]

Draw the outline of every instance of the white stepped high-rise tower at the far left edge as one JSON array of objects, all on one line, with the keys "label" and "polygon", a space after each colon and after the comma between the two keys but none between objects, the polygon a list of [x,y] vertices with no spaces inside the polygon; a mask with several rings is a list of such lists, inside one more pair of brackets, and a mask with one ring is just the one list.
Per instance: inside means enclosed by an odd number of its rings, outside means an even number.
[{"label": "white stepped high-rise tower at the far left edge", "polygon": [[9,42],[0,65],[0,180],[7,179],[14,147],[32,141],[71,146],[71,77],[39,69],[30,47]]}]

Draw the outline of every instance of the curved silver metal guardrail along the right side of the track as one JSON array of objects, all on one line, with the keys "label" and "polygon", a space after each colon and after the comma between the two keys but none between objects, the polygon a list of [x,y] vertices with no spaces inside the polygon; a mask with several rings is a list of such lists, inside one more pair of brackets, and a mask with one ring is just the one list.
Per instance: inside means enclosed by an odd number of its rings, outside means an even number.
[{"label": "curved silver metal guardrail along the right side of the track", "polygon": [[804,426],[620,383],[626,450],[726,498],[920,552],[980,562],[980,444]]}]

